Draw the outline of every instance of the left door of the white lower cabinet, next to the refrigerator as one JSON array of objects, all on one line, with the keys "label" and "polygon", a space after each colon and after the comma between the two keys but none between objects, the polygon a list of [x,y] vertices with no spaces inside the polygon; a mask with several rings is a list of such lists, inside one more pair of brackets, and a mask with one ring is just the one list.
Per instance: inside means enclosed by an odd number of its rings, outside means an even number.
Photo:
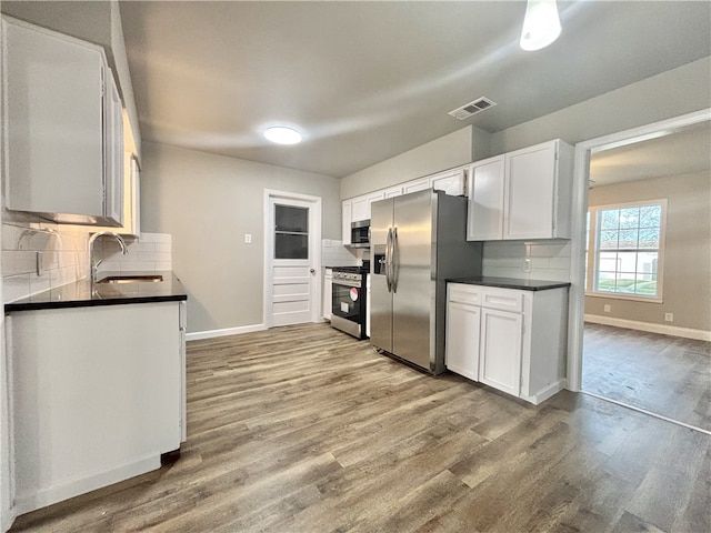
[{"label": "left door of the white lower cabinet, next to the refrigerator", "polygon": [[479,319],[481,308],[457,302],[447,304],[444,364],[452,372],[479,381]]}]

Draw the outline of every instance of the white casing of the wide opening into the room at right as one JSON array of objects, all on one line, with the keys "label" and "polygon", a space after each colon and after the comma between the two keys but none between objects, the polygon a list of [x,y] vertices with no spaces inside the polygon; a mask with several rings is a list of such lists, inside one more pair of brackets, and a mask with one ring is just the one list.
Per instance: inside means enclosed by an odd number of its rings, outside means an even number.
[{"label": "white casing of the wide opening into the room at right", "polygon": [[709,120],[711,120],[711,108],[575,144],[570,241],[570,281],[572,284],[568,320],[568,390],[579,392],[582,385],[582,339],[585,313],[585,215],[588,213],[590,154],[664,137]]}]

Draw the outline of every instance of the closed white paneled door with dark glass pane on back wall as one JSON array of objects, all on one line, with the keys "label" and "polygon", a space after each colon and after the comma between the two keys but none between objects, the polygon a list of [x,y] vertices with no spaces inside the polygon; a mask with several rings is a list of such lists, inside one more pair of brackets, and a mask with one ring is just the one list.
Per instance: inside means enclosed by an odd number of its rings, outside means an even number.
[{"label": "closed white paneled door with dark glass pane on back wall", "polygon": [[270,194],[267,247],[269,326],[319,318],[320,199]]}]

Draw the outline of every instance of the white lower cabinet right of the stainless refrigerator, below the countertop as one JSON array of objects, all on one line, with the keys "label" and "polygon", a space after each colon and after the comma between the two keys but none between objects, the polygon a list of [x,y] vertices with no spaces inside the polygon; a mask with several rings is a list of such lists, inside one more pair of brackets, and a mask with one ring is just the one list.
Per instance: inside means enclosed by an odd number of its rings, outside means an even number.
[{"label": "white lower cabinet right of the stainless refrigerator, below the countertop", "polygon": [[565,385],[568,288],[450,283],[447,368],[533,404]]}]

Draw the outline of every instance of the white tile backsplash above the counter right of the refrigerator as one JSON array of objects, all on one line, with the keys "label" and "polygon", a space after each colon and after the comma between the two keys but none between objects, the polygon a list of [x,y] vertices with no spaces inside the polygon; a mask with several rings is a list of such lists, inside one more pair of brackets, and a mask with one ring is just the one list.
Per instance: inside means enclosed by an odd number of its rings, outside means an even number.
[{"label": "white tile backsplash above the counter right of the refrigerator", "polygon": [[484,242],[483,275],[570,281],[570,241]]}]

